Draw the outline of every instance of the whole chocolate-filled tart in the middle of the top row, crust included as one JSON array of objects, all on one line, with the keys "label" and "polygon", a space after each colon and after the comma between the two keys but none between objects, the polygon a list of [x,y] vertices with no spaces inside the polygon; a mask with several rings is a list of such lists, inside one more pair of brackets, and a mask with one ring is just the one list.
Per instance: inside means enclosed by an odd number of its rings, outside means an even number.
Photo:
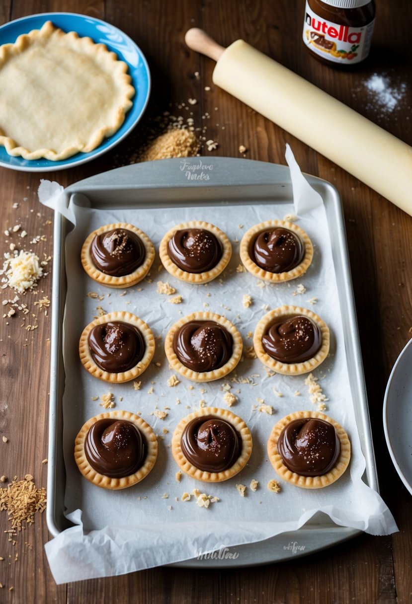
[{"label": "whole chocolate-filled tart in the middle of the top row, crust included", "polygon": [[173,277],[207,283],[228,265],[232,246],[223,231],[202,220],[173,226],[160,242],[161,262]]}]

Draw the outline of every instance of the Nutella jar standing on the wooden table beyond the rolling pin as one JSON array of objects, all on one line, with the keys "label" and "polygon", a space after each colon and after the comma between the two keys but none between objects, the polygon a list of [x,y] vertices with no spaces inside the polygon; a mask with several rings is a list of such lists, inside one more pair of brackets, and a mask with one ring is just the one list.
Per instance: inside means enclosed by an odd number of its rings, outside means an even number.
[{"label": "Nutella jar standing on the wooden table beyond the rolling pin", "polygon": [[303,42],[322,62],[350,66],[368,56],[374,22],[374,0],[306,0]]}]

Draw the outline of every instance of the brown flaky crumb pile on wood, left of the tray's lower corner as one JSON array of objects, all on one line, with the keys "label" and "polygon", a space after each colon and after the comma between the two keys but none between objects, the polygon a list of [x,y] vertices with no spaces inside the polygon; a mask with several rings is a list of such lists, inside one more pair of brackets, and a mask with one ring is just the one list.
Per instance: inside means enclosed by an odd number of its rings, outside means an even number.
[{"label": "brown flaky crumb pile on wood, left of the tray's lower corner", "polygon": [[22,530],[22,522],[33,524],[34,513],[46,508],[46,489],[37,489],[31,474],[24,480],[14,480],[7,489],[0,489],[0,510],[7,510],[11,528]]}]

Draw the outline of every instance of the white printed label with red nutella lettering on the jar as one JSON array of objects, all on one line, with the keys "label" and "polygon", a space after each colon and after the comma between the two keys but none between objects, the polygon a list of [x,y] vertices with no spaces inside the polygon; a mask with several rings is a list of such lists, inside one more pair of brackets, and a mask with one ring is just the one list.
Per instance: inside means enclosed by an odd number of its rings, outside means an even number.
[{"label": "white printed label with red nutella lettering on the jar", "polygon": [[313,53],[333,63],[359,63],[370,50],[374,21],[364,27],[339,25],[318,16],[306,8],[303,23],[303,42]]}]

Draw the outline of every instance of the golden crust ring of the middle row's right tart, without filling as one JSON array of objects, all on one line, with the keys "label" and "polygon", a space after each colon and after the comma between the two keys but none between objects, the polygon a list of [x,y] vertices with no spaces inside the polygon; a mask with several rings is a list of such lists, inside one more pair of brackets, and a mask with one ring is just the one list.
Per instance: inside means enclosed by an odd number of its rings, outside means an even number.
[{"label": "golden crust ring of the middle row's right tart, without filling", "polygon": [[[311,359],[307,359],[307,361],[300,363],[282,363],[281,361],[276,361],[276,359],[268,355],[266,350],[263,348],[263,335],[265,335],[269,327],[276,323],[277,320],[287,319],[295,315],[307,316],[317,324],[322,336],[321,347],[315,356],[313,356]],[[326,359],[329,353],[329,345],[330,333],[329,327],[327,327],[326,323],[320,318],[320,316],[315,315],[312,310],[307,310],[306,308],[301,308],[298,306],[281,306],[280,308],[269,310],[269,312],[262,316],[262,319],[260,319],[253,335],[253,347],[257,358],[259,358],[260,361],[262,361],[262,363],[266,365],[266,367],[269,367],[272,371],[282,373],[283,375],[298,376],[314,370]]]}]

